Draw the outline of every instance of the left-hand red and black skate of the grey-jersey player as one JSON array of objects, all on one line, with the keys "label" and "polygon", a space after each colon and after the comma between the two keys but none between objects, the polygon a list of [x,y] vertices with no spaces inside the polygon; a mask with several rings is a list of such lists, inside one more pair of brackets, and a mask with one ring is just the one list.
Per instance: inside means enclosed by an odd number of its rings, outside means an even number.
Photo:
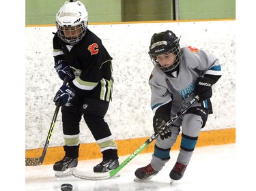
[{"label": "left-hand red and black skate of the grey-jersey player", "polygon": [[[147,180],[152,179],[158,172],[153,169],[151,164],[147,164],[147,166],[137,169],[134,174],[138,179]],[[137,181],[137,179],[134,179],[134,181]]]}]

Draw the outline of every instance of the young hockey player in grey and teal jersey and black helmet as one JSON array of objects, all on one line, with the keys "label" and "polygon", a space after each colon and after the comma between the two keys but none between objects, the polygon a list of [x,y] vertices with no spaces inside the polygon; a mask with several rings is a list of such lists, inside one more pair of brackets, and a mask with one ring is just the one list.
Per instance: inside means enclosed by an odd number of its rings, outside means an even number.
[{"label": "young hockey player in grey and teal jersey and black helmet", "polygon": [[201,128],[208,114],[212,114],[212,85],[221,77],[218,58],[191,46],[180,48],[179,41],[172,31],[155,33],[151,39],[149,54],[155,67],[149,84],[154,131],[158,132],[195,95],[199,96],[199,101],[156,139],[150,164],[135,171],[138,179],[151,179],[165,166],[182,129],[180,153],[170,173],[171,182],[181,179]]}]

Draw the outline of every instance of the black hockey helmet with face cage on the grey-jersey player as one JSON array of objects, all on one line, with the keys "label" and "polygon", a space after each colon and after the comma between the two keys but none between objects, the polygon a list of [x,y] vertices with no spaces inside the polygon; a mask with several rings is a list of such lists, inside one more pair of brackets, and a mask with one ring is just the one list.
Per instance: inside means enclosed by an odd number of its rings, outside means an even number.
[{"label": "black hockey helmet with face cage on the grey-jersey player", "polygon": [[[152,63],[162,71],[172,71],[175,69],[180,63],[181,52],[179,41],[180,38],[176,37],[176,35],[169,30],[165,32],[154,33],[150,42],[150,52],[148,52],[150,54]],[[162,67],[158,63],[156,56],[168,52],[173,52],[173,54],[175,54],[175,61],[170,67]]]}]

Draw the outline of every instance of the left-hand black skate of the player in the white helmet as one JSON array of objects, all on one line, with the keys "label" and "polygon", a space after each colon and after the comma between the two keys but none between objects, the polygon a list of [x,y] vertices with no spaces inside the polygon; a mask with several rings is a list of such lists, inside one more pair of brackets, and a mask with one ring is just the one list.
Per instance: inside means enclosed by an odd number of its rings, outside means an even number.
[{"label": "left-hand black skate of the player in the white helmet", "polygon": [[55,171],[56,177],[66,177],[71,175],[73,168],[77,167],[77,158],[70,158],[65,156],[62,160],[59,160],[53,165],[53,170]]}]

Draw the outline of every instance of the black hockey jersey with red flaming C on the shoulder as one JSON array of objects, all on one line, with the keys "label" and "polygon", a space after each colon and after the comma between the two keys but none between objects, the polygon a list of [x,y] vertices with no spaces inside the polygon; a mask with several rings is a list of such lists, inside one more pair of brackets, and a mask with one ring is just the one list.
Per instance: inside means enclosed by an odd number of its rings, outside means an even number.
[{"label": "black hockey jersey with red flaming C on the shoulder", "polygon": [[53,37],[53,56],[55,63],[66,60],[76,76],[69,82],[76,94],[103,101],[110,101],[113,78],[111,56],[102,41],[87,29],[78,44],[70,46],[57,35]]}]

